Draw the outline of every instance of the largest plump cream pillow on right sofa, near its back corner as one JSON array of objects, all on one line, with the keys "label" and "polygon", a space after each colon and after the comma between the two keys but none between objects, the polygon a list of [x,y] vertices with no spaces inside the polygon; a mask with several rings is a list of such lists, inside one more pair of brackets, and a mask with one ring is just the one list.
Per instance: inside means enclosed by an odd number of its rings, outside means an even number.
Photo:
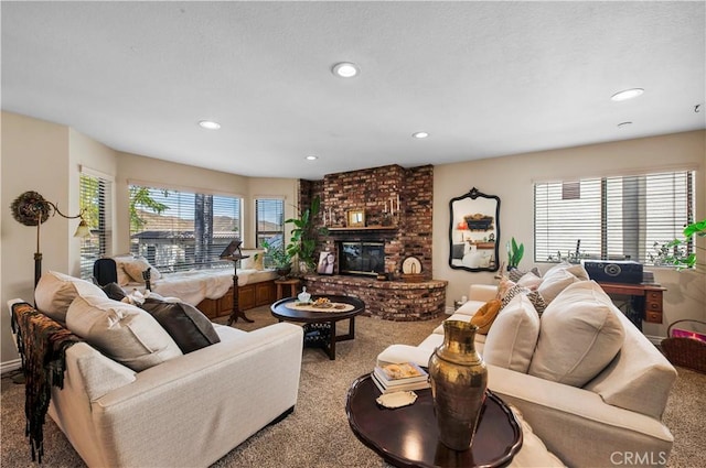
[{"label": "largest plump cream pillow on right sofa, near its back corner", "polygon": [[621,312],[593,281],[569,285],[542,315],[530,373],[574,387],[596,377],[620,350]]}]

